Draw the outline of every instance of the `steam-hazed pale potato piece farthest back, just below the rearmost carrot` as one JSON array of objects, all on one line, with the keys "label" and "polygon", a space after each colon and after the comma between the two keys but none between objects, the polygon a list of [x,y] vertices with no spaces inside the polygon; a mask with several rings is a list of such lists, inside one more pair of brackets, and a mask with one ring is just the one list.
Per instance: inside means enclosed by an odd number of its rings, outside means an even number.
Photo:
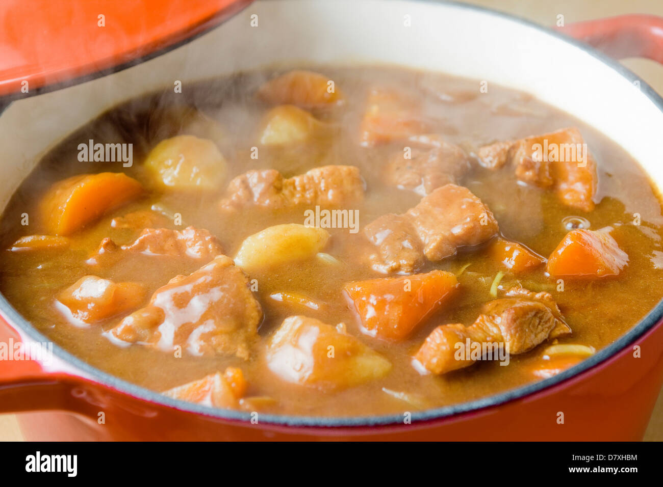
[{"label": "steam-hazed pale potato piece farthest back, just below the rearmost carrot", "polygon": [[294,105],[280,105],[272,108],[261,125],[260,143],[263,145],[283,145],[304,142],[314,135],[324,124],[313,115]]}]

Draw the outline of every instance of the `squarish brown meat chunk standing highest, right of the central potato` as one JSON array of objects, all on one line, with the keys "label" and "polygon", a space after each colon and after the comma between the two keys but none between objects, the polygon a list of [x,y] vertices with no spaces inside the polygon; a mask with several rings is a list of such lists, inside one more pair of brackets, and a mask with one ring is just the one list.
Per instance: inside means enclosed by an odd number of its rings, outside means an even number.
[{"label": "squarish brown meat chunk standing highest, right of the central potato", "polygon": [[452,256],[461,246],[490,240],[499,228],[490,209],[463,186],[447,184],[424,197],[406,215],[428,260]]}]

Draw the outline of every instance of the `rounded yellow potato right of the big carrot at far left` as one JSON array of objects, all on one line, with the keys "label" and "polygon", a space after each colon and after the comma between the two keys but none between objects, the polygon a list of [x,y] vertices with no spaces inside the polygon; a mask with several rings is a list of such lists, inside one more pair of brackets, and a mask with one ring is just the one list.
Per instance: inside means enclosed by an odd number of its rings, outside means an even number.
[{"label": "rounded yellow potato right of the big carrot at far left", "polygon": [[227,162],[214,142],[193,135],[162,140],[147,155],[145,166],[156,186],[164,189],[219,189],[227,175]]}]

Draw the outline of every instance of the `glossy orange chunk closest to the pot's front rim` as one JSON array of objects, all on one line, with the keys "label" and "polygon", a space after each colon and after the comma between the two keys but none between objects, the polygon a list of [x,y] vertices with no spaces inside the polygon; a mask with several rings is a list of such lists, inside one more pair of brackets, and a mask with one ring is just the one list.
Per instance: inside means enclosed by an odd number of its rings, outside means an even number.
[{"label": "glossy orange chunk closest to the pot's front rim", "polygon": [[164,396],[212,407],[237,407],[246,394],[247,382],[241,368],[228,367],[165,391]]}]

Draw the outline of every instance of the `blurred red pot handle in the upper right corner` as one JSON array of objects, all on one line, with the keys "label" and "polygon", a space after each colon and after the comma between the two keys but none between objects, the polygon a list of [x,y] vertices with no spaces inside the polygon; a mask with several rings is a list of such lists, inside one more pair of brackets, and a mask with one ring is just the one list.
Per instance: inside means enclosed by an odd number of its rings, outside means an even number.
[{"label": "blurred red pot handle in the upper right corner", "polygon": [[663,17],[621,15],[575,22],[556,30],[616,59],[648,58],[663,64]]}]

